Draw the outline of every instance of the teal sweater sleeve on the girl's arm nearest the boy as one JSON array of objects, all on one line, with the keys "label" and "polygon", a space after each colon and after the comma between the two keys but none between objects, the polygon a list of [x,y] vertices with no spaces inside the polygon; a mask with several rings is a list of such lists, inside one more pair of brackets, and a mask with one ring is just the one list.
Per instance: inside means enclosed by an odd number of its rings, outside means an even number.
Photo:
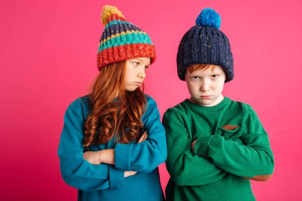
[{"label": "teal sweater sleeve on the girl's arm nearest the boy", "polygon": [[142,117],[147,140],[136,144],[118,143],[114,148],[115,167],[124,171],[150,172],[166,161],[165,128],[155,100],[147,96],[147,110]]}]

